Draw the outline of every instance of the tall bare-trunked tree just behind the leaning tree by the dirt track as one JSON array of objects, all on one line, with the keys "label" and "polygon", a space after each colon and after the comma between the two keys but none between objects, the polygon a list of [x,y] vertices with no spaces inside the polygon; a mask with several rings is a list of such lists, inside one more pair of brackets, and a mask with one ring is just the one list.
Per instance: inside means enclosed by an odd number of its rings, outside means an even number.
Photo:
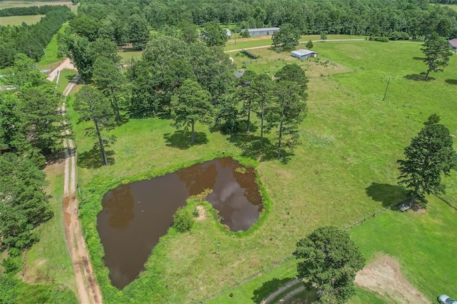
[{"label": "tall bare-trunked tree just behind the leaning tree by the dirt track", "polygon": [[119,93],[121,92],[126,79],[118,67],[106,57],[99,57],[94,63],[94,84],[99,90],[111,100],[111,106],[116,114],[116,120],[121,121],[119,113]]}]

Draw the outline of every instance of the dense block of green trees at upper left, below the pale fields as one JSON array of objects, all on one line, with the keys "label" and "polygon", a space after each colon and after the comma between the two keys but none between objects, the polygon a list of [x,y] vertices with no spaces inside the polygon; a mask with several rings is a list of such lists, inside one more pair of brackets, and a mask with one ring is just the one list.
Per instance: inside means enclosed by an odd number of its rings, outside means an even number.
[{"label": "dense block of green trees at upper left, below the pale fields", "polygon": [[0,26],[0,69],[11,66],[18,53],[39,61],[52,36],[71,16],[73,13],[68,6],[58,6],[57,9],[48,11],[36,24]]}]

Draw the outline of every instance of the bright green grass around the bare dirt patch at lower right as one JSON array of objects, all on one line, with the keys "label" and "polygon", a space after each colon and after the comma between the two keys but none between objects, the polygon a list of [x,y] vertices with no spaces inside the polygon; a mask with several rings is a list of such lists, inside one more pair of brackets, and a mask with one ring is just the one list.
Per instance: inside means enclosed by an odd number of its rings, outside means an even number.
[{"label": "bright green grass around the bare dirt patch at lower right", "polygon": [[[368,260],[376,253],[396,258],[406,278],[430,300],[455,295],[457,211],[431,198],[426,212],[389,211],[351,230]],[[454,258],[453,258],[454,257]]]}]

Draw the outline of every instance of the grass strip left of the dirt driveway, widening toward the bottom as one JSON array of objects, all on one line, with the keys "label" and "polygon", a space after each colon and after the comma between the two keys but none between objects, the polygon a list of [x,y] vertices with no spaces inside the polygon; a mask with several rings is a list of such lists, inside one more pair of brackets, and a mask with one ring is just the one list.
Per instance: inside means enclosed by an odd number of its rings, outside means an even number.
[{"label": "grass strip left of the dirt driveway, widening toward the bottom", "polygon": [[64,193],[63,161],[47,166],[45,172],[54,217],[39,227],[40,241],[27,253],[23,278],[28,283],[59,283],[76,293],[71,258],[66,248],[61,205]]}]

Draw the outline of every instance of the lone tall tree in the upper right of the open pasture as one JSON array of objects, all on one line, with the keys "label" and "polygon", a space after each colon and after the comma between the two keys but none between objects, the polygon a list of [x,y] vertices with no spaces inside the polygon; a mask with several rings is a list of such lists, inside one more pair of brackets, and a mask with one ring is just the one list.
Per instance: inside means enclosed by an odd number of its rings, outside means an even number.
[{"label": "lone tall tree in the upper right of the open pasture", "polygon": [[451,51],[449,51],[448,41],[436,33],[426,39],[421,50],[426,56],[423,62],[428,66],[426,80],[428,80],[428,74],[431,71],[443,71],[442,68],[448,65],[449,56],[452,55]]}]

